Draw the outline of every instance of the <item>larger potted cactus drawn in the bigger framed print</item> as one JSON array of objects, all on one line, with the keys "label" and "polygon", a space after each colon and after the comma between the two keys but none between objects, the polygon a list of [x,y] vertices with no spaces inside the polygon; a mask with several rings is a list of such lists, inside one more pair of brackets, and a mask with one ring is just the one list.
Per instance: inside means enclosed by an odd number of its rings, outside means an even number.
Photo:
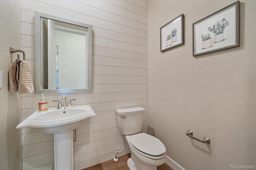
[{"label": "larger potted cactus drawn in the bigger framed print", "polygon": [[215,25],[212,25],[212,27],[208,27],[208,30],[215,34],[214,43],[218,43],[224,40],[224,30],[229,24],[230,22],[223,18],[221,21],[216,21]]}]

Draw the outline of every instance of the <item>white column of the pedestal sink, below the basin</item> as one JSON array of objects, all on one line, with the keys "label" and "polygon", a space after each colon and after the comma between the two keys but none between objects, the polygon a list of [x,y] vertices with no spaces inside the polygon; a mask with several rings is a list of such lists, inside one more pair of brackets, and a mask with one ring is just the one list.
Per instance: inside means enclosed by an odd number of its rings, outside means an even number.
[{"label": "white column of the pedestal sink, below the basin", "polygon": [[73,170],[73,131],[54,134],[54,169]]}]

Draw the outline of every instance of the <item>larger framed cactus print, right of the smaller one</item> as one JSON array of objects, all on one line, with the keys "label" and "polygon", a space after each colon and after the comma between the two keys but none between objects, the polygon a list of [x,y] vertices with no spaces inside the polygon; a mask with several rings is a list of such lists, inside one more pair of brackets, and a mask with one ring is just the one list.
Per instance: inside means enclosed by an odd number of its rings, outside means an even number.
[{"label": "larger framed cactus print, right of the smaller one", "polygon": [[193,56],[239,46],[239,1],[193,23]]}]

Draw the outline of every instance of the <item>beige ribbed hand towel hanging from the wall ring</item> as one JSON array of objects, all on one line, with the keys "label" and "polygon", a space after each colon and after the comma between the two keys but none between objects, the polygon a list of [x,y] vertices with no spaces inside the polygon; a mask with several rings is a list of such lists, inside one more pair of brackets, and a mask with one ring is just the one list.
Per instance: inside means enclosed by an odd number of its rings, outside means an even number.
[{"label": "beige ribbed hand towel hanging from the wall ring", "polygon": [[34,92],[34,86],[28,63],[22,59],[15,59],[9,69],[9,91],[27,94]]}]

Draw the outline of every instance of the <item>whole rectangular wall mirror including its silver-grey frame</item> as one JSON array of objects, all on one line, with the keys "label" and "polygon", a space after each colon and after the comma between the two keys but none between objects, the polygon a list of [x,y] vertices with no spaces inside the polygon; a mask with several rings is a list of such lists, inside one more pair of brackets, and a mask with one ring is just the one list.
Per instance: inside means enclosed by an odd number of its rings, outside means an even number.
[{"label": "whole rectangular wall mirror including its silver-grey frame", "polygon": [[92,92],[92,25],[35,12],[35,94]]}]

